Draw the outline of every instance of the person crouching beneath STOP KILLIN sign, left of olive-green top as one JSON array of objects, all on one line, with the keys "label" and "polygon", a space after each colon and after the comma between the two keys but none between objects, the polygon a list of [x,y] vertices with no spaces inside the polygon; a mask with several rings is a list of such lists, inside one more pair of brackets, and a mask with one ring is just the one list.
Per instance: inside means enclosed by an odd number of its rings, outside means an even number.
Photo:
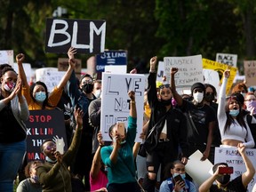
[{"label": "person crouching beneath STOP KILLIN sign, left of olive-green top", "polygon": [[25,175],[28,179],[22,180],[16,192],[42,192],[39,178],[36,175],[36,167],[42,164],[40,161],[31,161],[25,167]]}]

